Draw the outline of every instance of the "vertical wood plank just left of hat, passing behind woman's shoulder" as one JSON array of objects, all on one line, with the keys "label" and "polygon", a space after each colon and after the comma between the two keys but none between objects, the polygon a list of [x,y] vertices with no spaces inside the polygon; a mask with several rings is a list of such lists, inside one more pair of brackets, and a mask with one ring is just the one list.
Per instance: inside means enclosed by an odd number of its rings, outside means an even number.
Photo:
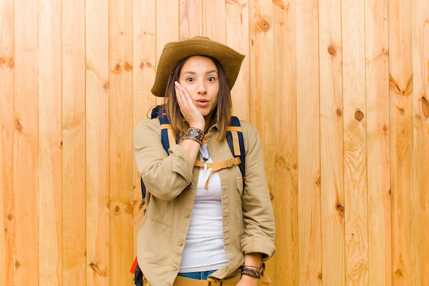
[{"label": "vertical wood plank just left of hat, passing behind woman's shoulder", "polygon": [[[155,1],[133,1],[134,12],[134,41],[133,41],[133,126],[143,119],[150,117],[149,110],[156,104],[156,98],[151,94],[151,88],[155,80],[156,62],[156,5]],[[138,67],[138,68],[137,68]],[[143,218],[141,201],[140,174],[134,160],[134,199],[133,220],[134,226],[134,256],[136,256],[136,237],[138,227]]]}]

